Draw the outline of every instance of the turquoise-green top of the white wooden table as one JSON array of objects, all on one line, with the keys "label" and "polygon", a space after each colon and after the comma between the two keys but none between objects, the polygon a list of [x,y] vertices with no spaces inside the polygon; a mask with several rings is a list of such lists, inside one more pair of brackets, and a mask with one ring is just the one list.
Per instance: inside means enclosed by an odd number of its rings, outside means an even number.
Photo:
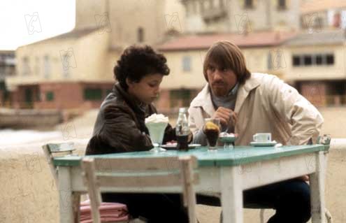
[{"label": "turquoise-green top of the white wooden table", "polygon": [[[170,157],[183,156],[191,154],[199,161],[199,166],[238,166],[278,157],[287,157],[297,154],[305,154],[318,151],[327,151],[327,145],[291,145],[274,147],[257,147],[236,146],[233,150],[224,150],[219,148],[216,151],[208,151],[206,147],[200,147],[188,152],[178,152],[177,150],[168,150],[166,152],[122,152],[113,154],[89,155],[87,157],[117,157],[117,158],[134,158],[134,157]],[[55,166],[80,166],[80,161],[84,156],[66,155],[64,157],[55,157],[53,164]]]}]

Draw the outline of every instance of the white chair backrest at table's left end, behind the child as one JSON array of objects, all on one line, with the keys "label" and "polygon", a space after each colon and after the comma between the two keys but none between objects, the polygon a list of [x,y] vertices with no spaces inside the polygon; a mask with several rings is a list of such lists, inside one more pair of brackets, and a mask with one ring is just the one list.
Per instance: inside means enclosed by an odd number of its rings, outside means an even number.
[{"label": "white chair backrest at table's left end, behind the child", "polygon": [[52,173],[55,180],[55,185],[57,185],[57,168],[53,164],[54,154],[66,152],[72,154],[73,150],[75,150],[75,148],[73,148],[73,143],[48,143],[43,145],[42,149],[43,153],[45,154],[45,159],[47,160],[50,167],[50,172]]}]

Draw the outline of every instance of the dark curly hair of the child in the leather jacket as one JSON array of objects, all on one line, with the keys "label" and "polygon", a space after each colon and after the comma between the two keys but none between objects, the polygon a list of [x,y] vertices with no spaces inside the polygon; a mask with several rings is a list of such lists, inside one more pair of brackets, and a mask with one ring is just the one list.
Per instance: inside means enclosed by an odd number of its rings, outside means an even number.
[{"label": "dark curly hair of the child in the leather jacket", "polygon": [[120,86],[128,89],[126,78],[134,82],[148,74],[169,74],[164,55],[155,52],[149,45],[131,45],[124,50],[113,69],[114,78],[120,82]]}]

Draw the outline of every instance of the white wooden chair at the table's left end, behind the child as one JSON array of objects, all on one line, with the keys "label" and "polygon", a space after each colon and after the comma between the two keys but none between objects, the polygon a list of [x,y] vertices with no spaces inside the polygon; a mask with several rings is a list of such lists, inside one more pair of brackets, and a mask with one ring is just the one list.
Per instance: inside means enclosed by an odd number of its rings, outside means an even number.
[{"label": "white wooden chair at the table's left end, behind the child", "polygon": [[[42,146],[43,152],[45,154],[45,159],[50,166],[50,172],[55,180],[55,185],[58,187],[58,172],[57,167],[53,164],[53,158],[62,155],[73,155],[73,143],[48,143]],[[80,193],[73,192],[73,213],[75,216],[74,222],[80,222]],[[127,222],[117,222],[117,223],[127,223]],[[132,222],[131,222],[132,223]]]}]

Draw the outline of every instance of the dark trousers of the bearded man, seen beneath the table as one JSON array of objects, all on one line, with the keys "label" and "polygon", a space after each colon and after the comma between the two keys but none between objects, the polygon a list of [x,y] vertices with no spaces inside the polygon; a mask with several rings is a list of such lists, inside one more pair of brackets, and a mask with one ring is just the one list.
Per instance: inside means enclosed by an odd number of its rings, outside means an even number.
[{"label": "dark trousers of the bearded man, seen beneath the table", "polygon": [[[197,203],[220,206],[217,198],[197,196]],[[268,223],[305,223],[311,217],[310,187],[303,180],[286,180],[243,192],[245,208],[273,208]]]}]

